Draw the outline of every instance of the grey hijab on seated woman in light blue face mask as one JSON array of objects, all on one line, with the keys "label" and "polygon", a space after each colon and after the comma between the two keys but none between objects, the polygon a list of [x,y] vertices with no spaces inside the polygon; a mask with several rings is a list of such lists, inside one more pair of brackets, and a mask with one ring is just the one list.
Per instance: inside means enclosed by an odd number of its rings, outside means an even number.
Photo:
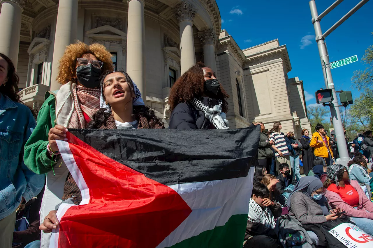
[{"label": "grey hijab on seated woman in light blue face mask", "polygon": [[325,202],[326,202],[325,196],[323,195],[322,198],[320,200],[317,200],[317,201],[314,200],[314,198],[311,196],[312,192],[314,192],[314,191],[316,191],[316,190],[318,190],[319,188],[322,188],[322,187],[323,187],[323,183],[320,181],[319,178],[317,178],[317,177],[302,177],[297,182],[297,185],[295,185],[295,188],[294,188],[293,192],[289,195],[288,201],[286,201],[286,205],[288,207],[290,207],[290,199],[291,199],[292,195],[297,191],[301,191],[303,194],[307,195],[308,198],[312,199],[317,204],[319,204],[322,211],[323,211],[323,214],[327,215],[327,214],[329,214],[329,211],[328,211],[327,207],[325,206]]}]

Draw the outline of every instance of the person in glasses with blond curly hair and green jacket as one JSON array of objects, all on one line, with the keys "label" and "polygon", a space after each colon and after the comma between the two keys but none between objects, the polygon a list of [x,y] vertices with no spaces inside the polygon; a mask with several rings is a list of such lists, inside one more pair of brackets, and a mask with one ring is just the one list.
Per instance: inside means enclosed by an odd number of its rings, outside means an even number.
[{"label": "person in glasses with blond curly hair and green jacket", "polygon": [[[112,55],[103,45],[76,42],[66,47],[59,60],[55,92],[47,92],[37,125],[25,144],[24,160],[37,174],[46,174],[41,218],[63,200],[81,198],[75,181],[59,155],[56,140],[66,140],[68,128],[86,128],[100,108],[100,76],[113,70]],[[42,233],[41,247],[49,246],[50,234]]]}]

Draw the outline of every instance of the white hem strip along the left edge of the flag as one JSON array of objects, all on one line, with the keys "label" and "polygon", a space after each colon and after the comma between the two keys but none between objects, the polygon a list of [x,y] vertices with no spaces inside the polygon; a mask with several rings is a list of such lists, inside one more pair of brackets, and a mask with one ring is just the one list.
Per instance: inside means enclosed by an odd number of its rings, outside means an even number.
[{"label": "white hem strip along the left edge of the flag", "polygon": [[[79,170],[78,166],[76,165],[74,155],[72,155],[72,152],[70,150],[69,143],[63,140],[56,140],[58,149],[61,153],[63,162],[65,162],[67,168],[70,171],[70,174],[74,178],[76,184],[79,187],[79,190],[82,193],[82,201],[79,205],[88,204],[90,201],[90,190],[88,189],[88,186],[84,180],[84,177]],[[74,204],[68,204],[68,203],[62,203],[57,211],[57,219],[61,220],[62,216],[66,213],[66,211],[72,207],[75,206]],[[57,248],[58,247],[58,239],[59,239],[59,229],[55,229],[52,232],[50,242],[49,242],[49,248]]]}]

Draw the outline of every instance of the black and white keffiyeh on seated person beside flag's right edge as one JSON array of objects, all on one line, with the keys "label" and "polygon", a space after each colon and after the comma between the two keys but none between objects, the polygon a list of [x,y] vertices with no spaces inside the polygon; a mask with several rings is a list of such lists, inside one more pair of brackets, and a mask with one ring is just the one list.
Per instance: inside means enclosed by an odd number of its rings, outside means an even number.
[{"label": "black and white keffiyeh on seated person beside flag's right edge", "polygon": [[276,226],[275,217],[273,217],[271,210],[268,207],[260,207],[259,204],[251,198],[247,220],[250,222],[261,223],[271,229],[275,229]]}]

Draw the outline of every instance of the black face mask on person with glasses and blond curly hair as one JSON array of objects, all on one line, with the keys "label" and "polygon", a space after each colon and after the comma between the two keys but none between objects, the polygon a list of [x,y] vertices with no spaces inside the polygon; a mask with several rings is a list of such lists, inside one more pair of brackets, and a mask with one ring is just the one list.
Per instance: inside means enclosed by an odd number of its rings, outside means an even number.
[{"label": "black face mask on person with glasses and blond curly hair", "polygon": [[78,66],[76,68],[76,77],[78,82],[84,87],[94,89],[100,85],[101,69],[94,67],[92,64],[87,66]]}]

